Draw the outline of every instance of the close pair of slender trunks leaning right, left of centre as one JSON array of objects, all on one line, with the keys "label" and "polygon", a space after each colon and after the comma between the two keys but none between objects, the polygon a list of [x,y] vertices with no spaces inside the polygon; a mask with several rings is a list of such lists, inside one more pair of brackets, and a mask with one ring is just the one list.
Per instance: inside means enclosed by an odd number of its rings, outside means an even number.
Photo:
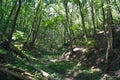
[{"label": "close pair of slender trunks leaning right, left of centre", "polygon": [[[40,6],[40,5],[42,5],[42,0],[37,5],[34,20],[32,22],[32,26],[31,26],[29,35],[27,37],[27,40],[24,44],[24,47],[25,47],[26,44],[30,45],[30,46],[34,46],[35,40],[37,38],[37,33],[39,31],[39,28],[40,28],[41,19],[42,19],[42,6]],[[40,9],[40,7],[41,7],[41,9]],[[41,12],[40,12],[40,14],[39,14],[40,16],[38,18],[39,9],[40,9]],[[29,39],[30,39],[30,41],[29,41]]]}]

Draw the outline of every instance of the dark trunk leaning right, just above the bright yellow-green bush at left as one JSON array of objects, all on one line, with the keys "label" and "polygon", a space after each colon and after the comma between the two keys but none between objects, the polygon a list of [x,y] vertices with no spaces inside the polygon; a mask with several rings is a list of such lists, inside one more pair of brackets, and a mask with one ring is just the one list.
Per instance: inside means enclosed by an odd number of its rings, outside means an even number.
[{"label": "dark trunk leaning right, just above the bright yellow-green bush at left", "polygon": [[21,0],[19,0],[18,2],[19,2],[19,5],[18,5],[18,9],[17,9],[16,14],[15,14],[15,18],[13,20],[12,30],[10,32],[10,35],[8,36],[8,42],[9,43],[11,42],[12,35],[15,31],[16,21],[17,21],[17,18],[18,18],[19,12],[20,12],[20,8],[21,8]]}]

